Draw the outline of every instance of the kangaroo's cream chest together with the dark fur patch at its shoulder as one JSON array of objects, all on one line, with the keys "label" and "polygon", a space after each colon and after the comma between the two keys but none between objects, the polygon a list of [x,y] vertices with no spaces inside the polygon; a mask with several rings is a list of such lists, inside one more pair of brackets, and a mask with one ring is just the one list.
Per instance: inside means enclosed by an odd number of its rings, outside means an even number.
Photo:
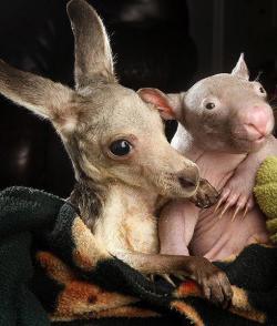
[{"label": "kangaroo's cream chest together with the dark fur patch at its shoulder", "polygon": [[[105,184],[103,186],[103,184]],[[71,202],[99,243],[117,252],[156,253],[157,195],[124,183],[79,182]]]}]

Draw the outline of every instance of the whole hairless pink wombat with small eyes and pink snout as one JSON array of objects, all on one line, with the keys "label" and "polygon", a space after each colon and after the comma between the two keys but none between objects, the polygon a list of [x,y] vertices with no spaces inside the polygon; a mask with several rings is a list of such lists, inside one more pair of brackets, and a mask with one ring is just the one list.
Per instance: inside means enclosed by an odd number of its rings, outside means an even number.
[{"label": "whole hairless pink wombat with small eyes and pink snout", "polygon": [[[277,154],[273,110],[266,91],[240,55],[230,74],[201,80],[187,92],[165,95],[144,89],[148,102],[171,108],[179,122],[172,145],[197,163],[201,176],[222,190],[219,202],[199,210],[173,201],[161,213],[161,253],[205,256],[237,254],[247,244],[268,242],[265,217],[253,198],[256,171]],[[224,205],[223,205],[224,204]]]}]

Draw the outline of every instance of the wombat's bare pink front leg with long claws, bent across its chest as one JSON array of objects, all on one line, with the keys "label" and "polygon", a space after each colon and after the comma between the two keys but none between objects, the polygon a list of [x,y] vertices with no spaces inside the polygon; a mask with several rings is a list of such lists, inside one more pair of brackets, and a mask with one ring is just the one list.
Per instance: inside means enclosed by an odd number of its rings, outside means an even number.
[{"label": "wombat's bare pink front leg with long claws, bent across its chest", "polygon": [[270,135],[266,144],[255,153],[250,153],[238,165],[234,175],[226,183],[220,193],[217,210],[222,206],[219,216],[228,208],[234,208],[233,220],[242,211],[243,216],[254,207],[253,189],[260,163],[270,155],[277,155],[277,140]]}]

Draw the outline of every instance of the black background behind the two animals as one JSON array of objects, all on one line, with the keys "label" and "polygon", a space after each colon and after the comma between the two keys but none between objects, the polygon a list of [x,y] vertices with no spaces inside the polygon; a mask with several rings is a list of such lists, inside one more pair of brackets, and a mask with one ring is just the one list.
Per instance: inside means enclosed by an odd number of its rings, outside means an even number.
[{"label": "black background behind the two animals", "polygon": [[[269,98],[277,83],[276,0],[91,0],[116,58],[121,83],[165,92],[229,72],[239,53]],[[1,0],[0,57],[73,85],[73,37],[65,0]],[[167,125],[172,136],[175,123]],[[0,189],[25,185],[68,196],[73,173],[50,123],[0,98]]]}]

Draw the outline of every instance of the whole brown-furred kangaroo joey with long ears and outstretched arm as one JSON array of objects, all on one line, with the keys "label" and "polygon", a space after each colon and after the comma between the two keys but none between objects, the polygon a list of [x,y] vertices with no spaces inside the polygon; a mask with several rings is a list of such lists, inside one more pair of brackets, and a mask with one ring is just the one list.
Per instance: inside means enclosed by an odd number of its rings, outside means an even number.
[{"label": "whole brown-furred kangaroo joey with long ears and outstretched arm", "polygon": [[0,93],[60,134],[75,172],[71,201],[94,235],[82,255],[115,255],[145,274],[184,273],[225,305],[232,291],[223,272],[204,258],[158,254],[157,198],[188,198],[199,183],[197,166],[166,141],[160,114],[168,108],[156,110],[117,83],[105,29],[84,0],[70,1],[68,13],[75,90],[0,61]]}]

